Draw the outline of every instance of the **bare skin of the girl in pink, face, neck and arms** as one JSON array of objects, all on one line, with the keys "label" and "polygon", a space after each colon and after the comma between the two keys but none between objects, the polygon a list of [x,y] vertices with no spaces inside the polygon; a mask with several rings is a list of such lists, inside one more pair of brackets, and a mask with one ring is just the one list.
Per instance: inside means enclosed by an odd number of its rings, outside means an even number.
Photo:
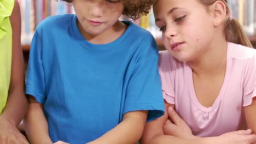
[{"label": "bare skin of the girl in pink, face, neck and arms", "polygon": [[[211,106],[222,87],[226,69],[228,44],[223,33],[225,4],[216,1],[207,10],[196,0],[158,0],[153,8],[166,50],[179,61],[189,64],[193,70],[197,99],[203,106]],[[173,49],[173,44],[177,43],[181,46]],[[207,87],[209,85],[211,88]],[[252,130],[234,131],[216,137],[194,136],[189,126],[170,107],[174,105],[166,103],[165,115],[146,124],[142,143],[250,144],[256,141],[256,136],[251,134],[255,131],[256,119],[252,114],[256,110],[255,99],[252,105],[245,107],[247,124]]]}]

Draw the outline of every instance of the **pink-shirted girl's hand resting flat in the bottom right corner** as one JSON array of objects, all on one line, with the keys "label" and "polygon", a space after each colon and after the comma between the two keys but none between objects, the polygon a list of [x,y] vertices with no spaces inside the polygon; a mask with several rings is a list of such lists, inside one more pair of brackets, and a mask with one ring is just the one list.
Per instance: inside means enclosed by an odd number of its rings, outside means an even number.
[{"label": "pink-shirted girl's hand resting flat in the bottom right corner", "polygon": [[220,135],[217,142],[223,144],[251,144],[256,142],[256,135],[252,134],[252,130],[238,130]]}]

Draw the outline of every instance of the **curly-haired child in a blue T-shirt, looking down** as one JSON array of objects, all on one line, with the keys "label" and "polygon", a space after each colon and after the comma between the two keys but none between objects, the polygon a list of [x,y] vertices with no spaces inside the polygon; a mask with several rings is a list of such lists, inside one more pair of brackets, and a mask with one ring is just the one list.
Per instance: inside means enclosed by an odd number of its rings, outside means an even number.
[{"label": "curly-haired child in a blue T-shirt, looking down", "polygon": [[[72,2],[66,0],[66,2]],[[136,19],[152,1],[73,0],[36,28],[26,93],[31,143],[135,143],[164,115],[158,49]],[[139,35],[139,37],[138,37]]]}]

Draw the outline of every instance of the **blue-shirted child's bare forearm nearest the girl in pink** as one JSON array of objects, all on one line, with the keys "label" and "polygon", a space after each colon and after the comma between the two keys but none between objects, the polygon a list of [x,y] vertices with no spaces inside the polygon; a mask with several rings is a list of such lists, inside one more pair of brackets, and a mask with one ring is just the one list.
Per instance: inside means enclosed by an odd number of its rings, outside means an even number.
[{"label": "blue-shirted child's bare forearm nearest the girl in pink", "polygon": [[117,127],[108,131],[95,141],[94,143],[135,143],[139,140],[143,133],[144,125],[146,123],[148,111],[132,111],[124,115],[123,121]]}]

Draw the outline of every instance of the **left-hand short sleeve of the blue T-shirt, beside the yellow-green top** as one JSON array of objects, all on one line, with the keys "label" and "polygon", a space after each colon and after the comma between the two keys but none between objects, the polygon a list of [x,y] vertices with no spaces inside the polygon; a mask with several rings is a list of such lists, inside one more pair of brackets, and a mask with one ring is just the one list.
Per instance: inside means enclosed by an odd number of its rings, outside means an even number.
[{"label": "left-hand short sleeve of the blue T-shirt, beside the yellow-green top", "polygon": [[42,60],[42,38],[38,30],[33,35],[30,58],[28,61],[27,79],[26,79],[26,94],[36,98],[38,103],[45,102],[45,79]]}]

